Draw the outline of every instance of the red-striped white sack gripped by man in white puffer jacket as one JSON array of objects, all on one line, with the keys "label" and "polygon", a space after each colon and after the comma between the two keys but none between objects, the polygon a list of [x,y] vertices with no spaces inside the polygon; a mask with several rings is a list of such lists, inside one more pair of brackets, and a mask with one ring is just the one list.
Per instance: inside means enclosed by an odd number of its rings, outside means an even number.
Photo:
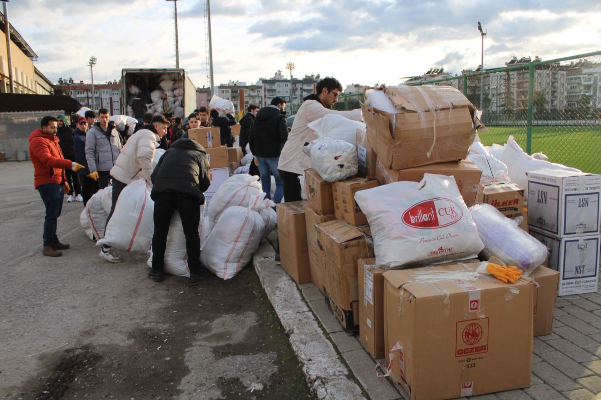
[{"label": "red-striped white sack gripped by man in white puffer jacket", "polygon": [[106,226],[105,237],[97,246],[114,246],[125,251],[149,252],[154,231],[154,201],[144,179],[127,185],[117,200]]}]

